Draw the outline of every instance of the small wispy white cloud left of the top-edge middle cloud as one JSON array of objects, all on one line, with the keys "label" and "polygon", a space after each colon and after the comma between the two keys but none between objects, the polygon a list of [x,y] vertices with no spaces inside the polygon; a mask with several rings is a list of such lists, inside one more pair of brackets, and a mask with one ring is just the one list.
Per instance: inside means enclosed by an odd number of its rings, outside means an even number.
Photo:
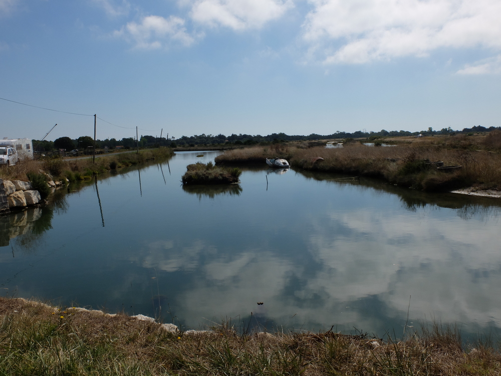
[{"label": "small wispy white cloud left of the top-edge middle cloud", "polygon": [[195,38],[186,32],[184,20],[175,16],[167,19],[147,16],[140,23],[129,22],[121,30],[115,31],[114,35],[134,43],[138,49],[164,48],[171,42],[190,46],[195,41]]}]

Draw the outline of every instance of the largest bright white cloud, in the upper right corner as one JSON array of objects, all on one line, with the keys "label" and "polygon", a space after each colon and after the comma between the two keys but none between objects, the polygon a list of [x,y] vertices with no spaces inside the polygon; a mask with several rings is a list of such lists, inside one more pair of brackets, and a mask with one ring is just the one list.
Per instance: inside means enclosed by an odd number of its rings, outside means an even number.
[{"label": "largest bright white cloud, in the upper right corner", "polygon": [[310,0],[303,24],[325,63],[427,56],[439,48],[501,49],[498,0]]}]

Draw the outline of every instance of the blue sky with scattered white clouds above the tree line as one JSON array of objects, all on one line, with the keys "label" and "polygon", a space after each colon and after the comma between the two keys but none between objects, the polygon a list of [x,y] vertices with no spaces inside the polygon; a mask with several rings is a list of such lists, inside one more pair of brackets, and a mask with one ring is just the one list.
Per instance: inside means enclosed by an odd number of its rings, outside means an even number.
[{"label": "blue sky with scattered white clouds above the tree line", "polygon": [[499,20],[499,0],[0,0],[0,137],[93,136],[94,114],[98,139],[497,127]]}]

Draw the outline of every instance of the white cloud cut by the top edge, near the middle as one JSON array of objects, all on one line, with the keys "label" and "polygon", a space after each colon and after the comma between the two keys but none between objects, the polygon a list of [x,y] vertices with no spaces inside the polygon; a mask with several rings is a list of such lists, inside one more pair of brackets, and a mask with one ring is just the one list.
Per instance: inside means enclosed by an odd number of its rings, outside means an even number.
[{"label": "white cloud cut by the top edge, near the middle", "polygon": [[192,4],[191,17],[203,25],[240,31],[260,29],[291,7],[291,0],[198,0]]}]

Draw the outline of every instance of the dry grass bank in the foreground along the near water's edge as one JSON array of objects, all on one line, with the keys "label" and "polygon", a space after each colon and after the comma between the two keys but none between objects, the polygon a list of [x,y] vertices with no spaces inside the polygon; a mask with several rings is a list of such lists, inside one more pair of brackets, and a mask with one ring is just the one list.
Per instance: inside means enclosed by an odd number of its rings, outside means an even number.
[{"label": "dry grass bank in the foreground along the near water's edge", "polygon": [[0,298],[5,375],[498,375],[501,354],[435,326],[402,341],[366,335],[169,332],[124,314]]}]

